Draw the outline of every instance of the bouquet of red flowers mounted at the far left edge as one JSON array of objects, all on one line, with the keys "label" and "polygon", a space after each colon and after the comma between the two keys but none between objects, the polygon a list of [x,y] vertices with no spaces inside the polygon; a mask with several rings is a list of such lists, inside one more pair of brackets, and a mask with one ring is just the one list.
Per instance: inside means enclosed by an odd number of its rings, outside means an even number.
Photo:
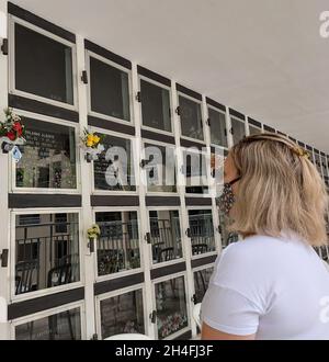
[{"label": "bouquet of red flowers mounted at the far left edge", "polygon": [[15,145],[24,145],[24,126],[12,109],[5,109],[4,115],[4,121],[0,121],[0,144],[2,152],[8,154]]}]

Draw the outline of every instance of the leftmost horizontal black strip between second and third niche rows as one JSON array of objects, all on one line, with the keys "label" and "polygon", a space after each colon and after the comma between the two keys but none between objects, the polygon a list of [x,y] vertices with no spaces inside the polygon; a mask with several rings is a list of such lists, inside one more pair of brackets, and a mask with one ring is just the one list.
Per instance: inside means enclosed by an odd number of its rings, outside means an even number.
[{"label": "leftmost horizontal black strip between second and third niche rows", "polygon": [[9,193],[9,208],[81,207],[81,195]]}]

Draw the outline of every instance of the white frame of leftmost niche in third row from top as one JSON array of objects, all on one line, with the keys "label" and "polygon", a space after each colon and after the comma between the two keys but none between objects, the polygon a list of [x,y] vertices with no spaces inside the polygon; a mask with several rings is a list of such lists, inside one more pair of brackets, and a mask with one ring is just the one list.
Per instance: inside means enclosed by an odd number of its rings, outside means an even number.
[{"label": "white frame of leftmost niche in third row from top", "polygon": [[[46,287],[46,289],[41,289],[38,291],[33,291],[29,293],[23,293],[15,295],[15,256],[16,256],[16,246],[15,246],[15,217],[18,215],[31,215],[31,214],[78,214],[78,223],[79,223],[79,281],[72,282],[69,284],[64,284],[64,285],[58,285],[58,286],[53,286],[53,287]],[[20,302],[20,301],[27,301],[27,299],[34,299],[38,296],[45,296],[45,295],[52,295],[56,294],[63,291],[68,291],[68,290],[73,290],[80,286],[84,285],[84,247],[83,247],[83,241],[84,236],[82,233],[82,215],[81,215],[81,208],[78,207],[64,207],[64,208],[14,208],[11,211],[10,215],[11,219],[11,237],[10,237],[10,264],[8,268],[9,272],[9,289],[10,289],[10,299],[11,302]],[[83,241],[82,241],[83,240]]]}]

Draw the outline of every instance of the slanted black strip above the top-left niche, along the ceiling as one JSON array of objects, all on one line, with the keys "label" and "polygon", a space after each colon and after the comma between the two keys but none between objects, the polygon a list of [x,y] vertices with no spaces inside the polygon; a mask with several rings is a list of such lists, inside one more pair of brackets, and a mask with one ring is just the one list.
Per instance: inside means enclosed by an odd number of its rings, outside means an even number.
[{"label": "slanted black strip above the top-left niche, along the ceiling", "polygon": [[43,18],[39,18],[39,16],[33,14],[32,12],[15,5],[12,2],[8,2],[8,12],[16,18],[25,20],[26,22],[29,22],[33,25],[36,25],[49,33],[53,33],[59,37],[63,37],[66,41],[69,41],[71,43],[76,44],[76,34],[68,32],[67,30],[65,30],[58,25],[55,25],[55,24],[50,23],[49,21],[47,21]]}]

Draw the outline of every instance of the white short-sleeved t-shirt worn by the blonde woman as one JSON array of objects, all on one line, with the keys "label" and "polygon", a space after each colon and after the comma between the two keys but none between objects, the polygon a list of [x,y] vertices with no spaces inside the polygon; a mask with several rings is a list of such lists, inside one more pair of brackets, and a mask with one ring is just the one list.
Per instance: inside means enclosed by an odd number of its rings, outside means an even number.
[{"label": "white short-sleeved t-shirt worn by the blonde woman", "polygon": [[256,339],[329,339],[329,272],[296,236],[252,236],[215,262],[201,319]]}]

